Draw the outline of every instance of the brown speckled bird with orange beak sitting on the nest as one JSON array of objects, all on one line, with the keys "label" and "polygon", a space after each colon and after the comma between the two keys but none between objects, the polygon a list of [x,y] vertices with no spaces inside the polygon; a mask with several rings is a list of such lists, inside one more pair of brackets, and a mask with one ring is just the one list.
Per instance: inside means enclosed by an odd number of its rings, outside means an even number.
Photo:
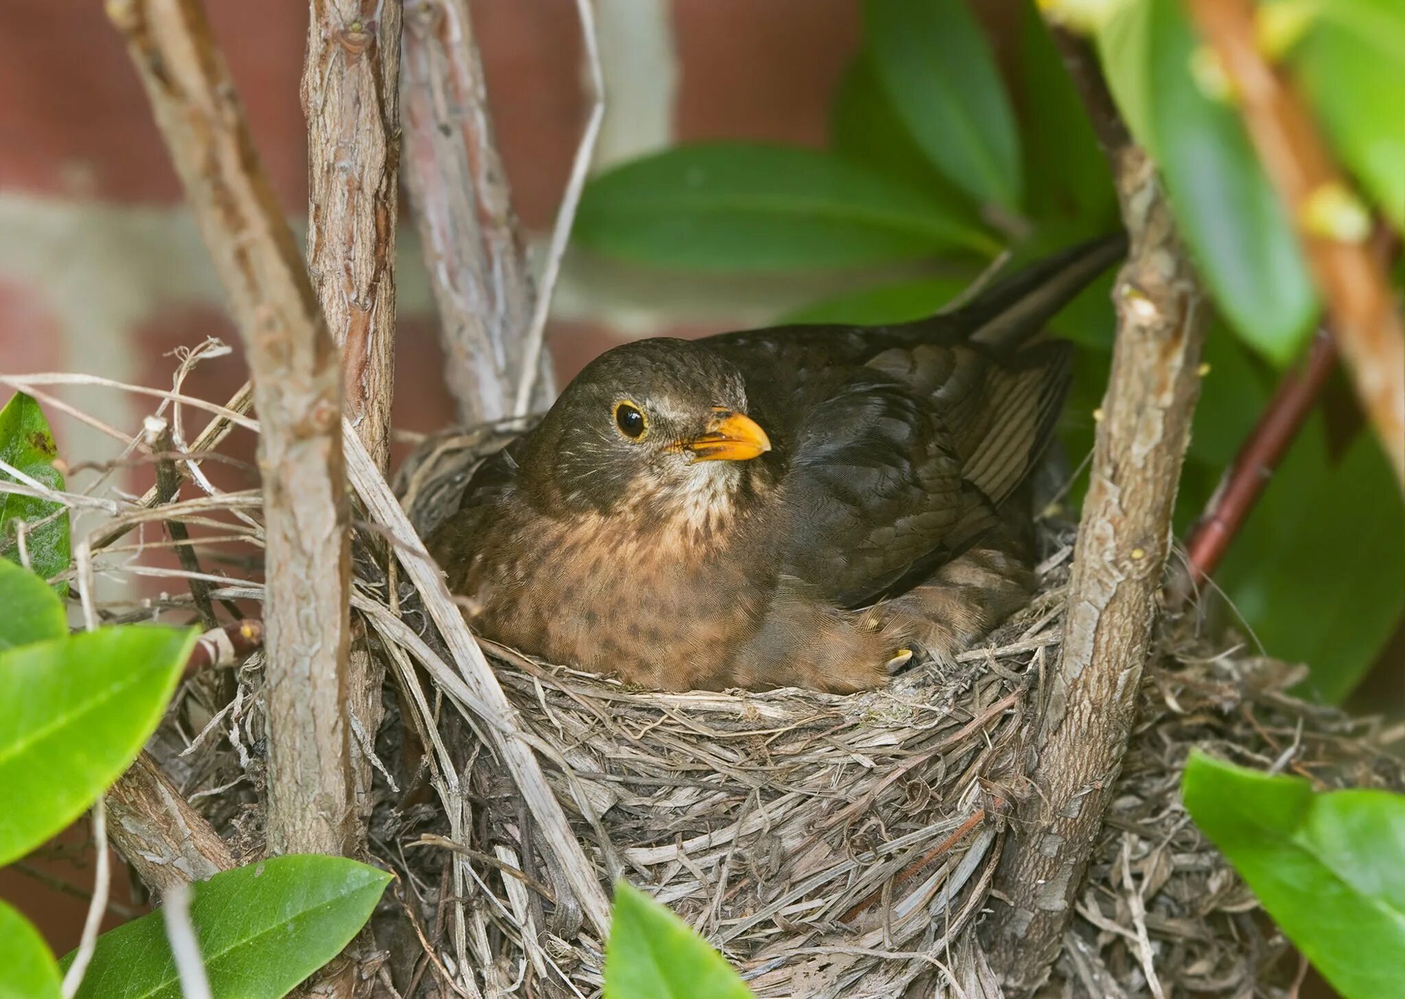
[{"label": "brown speckled bird with orange beak sitting on the nest", "polygon": [[1071,361],[1034,334],[1123,252],[913,323],[606,351],[430,551],[481,635],[648,687],[849,693],[948,659],[1028,600]]}]

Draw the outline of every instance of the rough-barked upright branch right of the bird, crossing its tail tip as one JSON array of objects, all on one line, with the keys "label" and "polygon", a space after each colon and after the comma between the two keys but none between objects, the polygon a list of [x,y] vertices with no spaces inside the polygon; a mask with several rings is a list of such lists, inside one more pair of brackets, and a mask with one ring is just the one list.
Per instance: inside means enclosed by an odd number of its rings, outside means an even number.
[{"label": "rough-barked upright branch right of the bird, crossing its tail tip", "polygon": [[1033,787],[996,871],[992,895],[1005,903],[985,925],[992,965],[1012,993],[1038,988],[1058,957],[1121,770],[1198,393],[1204,315],[1194,273],[1151,160],[1131,145],[1110,152],[1130,237],[1113,292],[1117,340],[1064,645],[1030,738]]}]

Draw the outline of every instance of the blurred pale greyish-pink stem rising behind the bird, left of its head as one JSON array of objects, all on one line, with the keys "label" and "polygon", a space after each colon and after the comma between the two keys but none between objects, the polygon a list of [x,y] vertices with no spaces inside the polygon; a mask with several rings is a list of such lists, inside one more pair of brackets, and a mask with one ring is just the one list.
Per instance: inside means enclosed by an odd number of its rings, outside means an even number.
[{"label": "blurred pale greyish-pink stem rising behind the bird, left of its head", "polygon": [[[405,3],[406,184],[461,423],[511,416],[535,303],[468,0]],[[554,395],[551,360],[541,396]]]}]

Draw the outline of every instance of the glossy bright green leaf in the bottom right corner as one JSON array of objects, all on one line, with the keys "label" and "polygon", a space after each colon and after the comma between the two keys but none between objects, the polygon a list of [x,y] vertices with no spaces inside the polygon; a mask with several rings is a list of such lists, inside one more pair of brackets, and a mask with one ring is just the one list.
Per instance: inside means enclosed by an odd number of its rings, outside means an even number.
[{"label": "glossy bright green leaf in the bottom right corner", "polygon": [[1405,996],[1405,797],[1194,753],[1186,811],[1345,999]]}]

